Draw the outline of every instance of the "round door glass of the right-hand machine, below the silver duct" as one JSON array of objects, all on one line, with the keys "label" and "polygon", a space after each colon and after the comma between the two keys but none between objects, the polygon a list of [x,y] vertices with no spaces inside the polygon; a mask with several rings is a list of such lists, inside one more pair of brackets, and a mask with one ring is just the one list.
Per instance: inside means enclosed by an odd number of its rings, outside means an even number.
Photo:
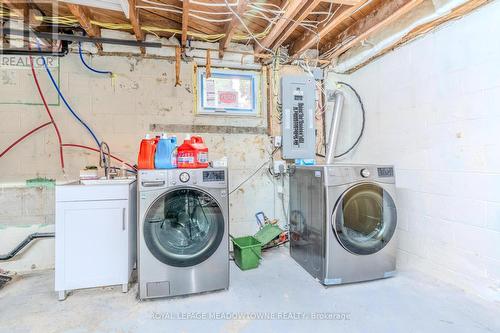
[{"label": "round door glass of the right-hand machine, below the silver duct", "polygon": [[396,230],[394,200],[377,184],[365,183],[349,188],[338,200],[332,227],[342,246],[355,254],[380,251]]}]

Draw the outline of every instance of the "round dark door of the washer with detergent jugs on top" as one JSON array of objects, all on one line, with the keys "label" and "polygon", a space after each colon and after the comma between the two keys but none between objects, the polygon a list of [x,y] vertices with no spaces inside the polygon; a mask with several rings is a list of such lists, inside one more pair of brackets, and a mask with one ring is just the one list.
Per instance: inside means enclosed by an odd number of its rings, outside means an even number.
[{"label": "round dark door of the washer with detergent jugs on top", "polygon": [[215,199],[196,189],[159,197],[146,213],[144,240],[161,262],[187,267],[208,259],[224,235],[224,216]]}]

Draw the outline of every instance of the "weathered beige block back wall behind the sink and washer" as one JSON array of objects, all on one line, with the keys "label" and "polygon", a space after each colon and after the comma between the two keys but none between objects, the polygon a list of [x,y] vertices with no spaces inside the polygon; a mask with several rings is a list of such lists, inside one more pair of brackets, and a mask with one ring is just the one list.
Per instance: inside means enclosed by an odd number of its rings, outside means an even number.
[{"label": "weathered beige block back wall behind the sink and washer", "polygon": [[[106,141],[111,153],[135,163],[140,140],[151,133],[152,124],[222,125],[267,128],[265,107],[259,116],[225,117],[199,116],[193,109],[195,89],[194,65],[181,66],[182,86],[174,87],[175,64],[169,60],[142,59],[137,57],[95,56],[87,61],[93,67],[111,70],[114,79],[94,74],[83,67],[78,55],[61,58],[61,89],[70,105]],[[32,128],[48,121],[39,102],[39,96],[29,69],[0,68],[0,90],[9,96],[0,96],[0,149]],[[50,103],[57,103],[57,96],[47,79],[47,74],[37,70],[42,89]],[[57,74],[57,71],[54,71]],[[261,84],[264,84],[262,82]],[[262,89],[265,91],[265,89]],[[266,96],[261,96],[265,106]],[[8,100],[6,100],[8,99]],[[5,101],[4,101],[5,100]],[[24,104],[3,104],[16,101]],[[79,125],[64,105],[51,107],[60,127],[64,143],[84,144],[95,147],[85,129]],[[171,133],[182,140],[187,133]],[[209,147],[209,157],[228,157],[230,190],[252,174],[269,159],[272,150],[267,135],[201,133]],[[29,231],[53,227],[53,190],[31,189],[22,185],[26,179],[47,177],[58,183],[76,180],[79,170],[98,164],[98,154],[77,148],[65,148],[65,170],[61,170],[57,138],[51,127],[23,141],[0,158],[0,253],[9,251]],[[119,165],[118,165],[119,166]],[[267,175],[266,168],[230,196],[231,233],[235,236],[257,231],[254,214],[264,211],[270,217],[282,219],[282,208],[276,194],[278,181]],[[52,246],[52,240],[39,243]],[[30,257],[31,251],[19,260],[0,268],[25,270],[53,265],[53,250],[46,248],[43,258]],[[28,258],[22,263],[23,258]]]}]

